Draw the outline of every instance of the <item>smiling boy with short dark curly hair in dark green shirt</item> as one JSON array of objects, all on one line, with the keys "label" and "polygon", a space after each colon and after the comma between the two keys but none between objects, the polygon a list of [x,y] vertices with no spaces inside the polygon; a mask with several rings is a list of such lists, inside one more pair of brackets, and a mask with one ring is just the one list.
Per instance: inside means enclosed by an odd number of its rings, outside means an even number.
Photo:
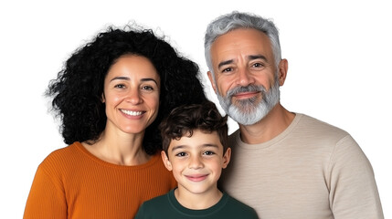
[{"label": "smiling boy with short dark curly hair in dark green shirt", "polygon": [[178,187],[143,203],[136,218],[258,218],[217,189],[230,161],[227,118],[207,102],[178,107],[162,121],[162,160]]}]

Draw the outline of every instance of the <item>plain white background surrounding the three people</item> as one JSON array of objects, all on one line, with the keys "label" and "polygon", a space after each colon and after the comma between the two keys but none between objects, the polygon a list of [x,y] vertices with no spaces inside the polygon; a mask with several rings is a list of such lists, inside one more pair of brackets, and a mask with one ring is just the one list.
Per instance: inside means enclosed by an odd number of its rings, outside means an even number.
[{"label": "plain white background surrounding the three people", "polygon": [[[289,60],[282,105],[353,135],[373,165],[385,217],[392,217],[392,16],[387,1],[141,2],[0,3],[0,218],[22,218],[38,164],[65,146],[43,93],[77,47],[105,26],[135,21],[165,35],[206,76],[206,26],[233,10],[274,20],[282,57]],[[217,101],[204,80],[206,92]],[[229,125],[230,132],[236,129]]]}]

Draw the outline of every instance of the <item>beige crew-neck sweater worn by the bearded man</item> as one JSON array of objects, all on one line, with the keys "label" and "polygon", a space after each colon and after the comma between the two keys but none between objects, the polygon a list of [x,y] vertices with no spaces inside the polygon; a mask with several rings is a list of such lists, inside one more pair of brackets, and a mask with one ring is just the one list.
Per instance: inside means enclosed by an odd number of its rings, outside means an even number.
[{"label": "beige crew-neck sweater worn by the bearded man", "polygon": [[222,188],[261,219],[384,218],[370,162],[344,130],[303,114],[276,138],[230,136]]}]

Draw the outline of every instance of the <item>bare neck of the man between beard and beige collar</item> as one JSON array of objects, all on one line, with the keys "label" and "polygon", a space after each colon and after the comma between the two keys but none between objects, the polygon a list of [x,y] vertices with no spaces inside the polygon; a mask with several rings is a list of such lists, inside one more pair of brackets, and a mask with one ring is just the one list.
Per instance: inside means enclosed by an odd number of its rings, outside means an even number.
[{"label": "bare neck of the man between beard and beige collar", "polygon": [[278,103],[270,113],[259,122],[245,126],[239,125],[241,140],[249,144],[264,143],[275,138],[294,120],[295,114],[284,109]]}]

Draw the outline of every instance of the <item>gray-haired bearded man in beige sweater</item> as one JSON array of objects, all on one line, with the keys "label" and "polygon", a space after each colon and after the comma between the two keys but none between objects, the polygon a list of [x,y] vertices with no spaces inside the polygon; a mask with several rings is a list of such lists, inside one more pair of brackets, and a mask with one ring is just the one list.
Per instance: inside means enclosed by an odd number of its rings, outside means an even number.
[{"label": "gray-haired bearded man in beige sweater", "polygon": [[280,103],[277,28],[233,12],[207,27],[208,78],[239,129],[222,187],[260,218],[384,218],[371,164],[344,130]]}]

